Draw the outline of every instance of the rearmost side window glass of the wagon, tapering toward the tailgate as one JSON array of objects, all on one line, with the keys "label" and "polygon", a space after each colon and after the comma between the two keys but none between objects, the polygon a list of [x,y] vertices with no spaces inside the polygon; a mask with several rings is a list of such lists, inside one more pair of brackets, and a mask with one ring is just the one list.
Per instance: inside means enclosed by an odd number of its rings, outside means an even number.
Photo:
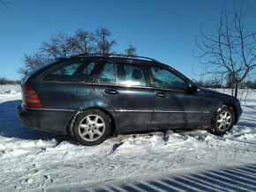
[{"label": "rearmost side window glass of the wagon, tapering toward the tailgate", "polygon": [[85,81],[89,82],[96,63],[72,63],[51,71],[45,81]]}]

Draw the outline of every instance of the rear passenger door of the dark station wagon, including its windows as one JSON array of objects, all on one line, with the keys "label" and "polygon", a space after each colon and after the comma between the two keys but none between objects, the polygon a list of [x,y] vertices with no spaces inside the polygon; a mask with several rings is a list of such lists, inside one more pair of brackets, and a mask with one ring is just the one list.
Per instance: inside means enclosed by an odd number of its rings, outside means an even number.
[{"label": "rear passenger door of the dark station wagon, including its windows", "polygon": [[148,87],[142,64],[106,63],[94,90],[114,108],[120,132],[151,128],[154,91]]}]

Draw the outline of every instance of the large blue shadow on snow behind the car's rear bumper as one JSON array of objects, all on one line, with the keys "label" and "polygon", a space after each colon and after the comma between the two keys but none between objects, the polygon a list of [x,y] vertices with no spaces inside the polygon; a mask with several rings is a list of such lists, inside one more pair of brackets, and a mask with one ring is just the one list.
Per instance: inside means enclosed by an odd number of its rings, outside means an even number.
[{"label": "large blue shadow on snow behind the car's rear bumper", "polygon": [[16,114],[16,107],[21,100],[10,100],[0,103],[0,136],[8,138],[19,138],[25,140],[52,140],[59,144],[64,140],[71,140],[70,137],[51,134],[37,129],[29,129],[21,125]]}]

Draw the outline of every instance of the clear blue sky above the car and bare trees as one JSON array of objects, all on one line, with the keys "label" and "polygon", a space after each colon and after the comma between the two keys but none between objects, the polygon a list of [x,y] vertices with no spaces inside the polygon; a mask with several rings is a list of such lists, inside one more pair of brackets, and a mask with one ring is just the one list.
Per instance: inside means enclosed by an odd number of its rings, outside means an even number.
[{"label": "clear blue sky above the car and bare trees", "polygon": [[[232,11],[231,0],[10,0],[0,13],[0,77],[19,79],[16,70],[24,54],[32,54],[41,41],[58,32],[107,27],[117,41],[117,52],[132,43],[137,54],[152,57],[181,71],[188,78],[200,73],[192,55],[200,25],[216,32],[222,7]],[[239,2],[239,1],[238,1]],[[252,0],[245,27],[255,31],[256,1]]]}]

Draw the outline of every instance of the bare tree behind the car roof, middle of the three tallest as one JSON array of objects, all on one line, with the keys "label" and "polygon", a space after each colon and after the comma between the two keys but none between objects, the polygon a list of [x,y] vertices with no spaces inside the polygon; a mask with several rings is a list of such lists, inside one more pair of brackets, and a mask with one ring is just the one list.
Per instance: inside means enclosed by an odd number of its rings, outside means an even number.
[{"label": "bare tree behind the car roof, middle of the three tallest", "polygon": [[71,40],[74,54],[91,54],[95,52],[94,33],[78,29]]}]

